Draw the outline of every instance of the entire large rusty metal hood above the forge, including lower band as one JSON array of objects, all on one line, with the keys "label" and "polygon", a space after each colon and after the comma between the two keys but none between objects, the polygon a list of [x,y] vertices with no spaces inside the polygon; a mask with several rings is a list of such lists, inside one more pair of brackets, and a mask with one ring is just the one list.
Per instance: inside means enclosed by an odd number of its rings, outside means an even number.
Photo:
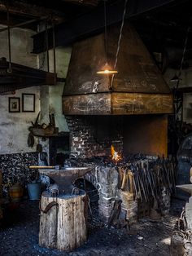
[{"label": "entire large rusty metal hood above the forge, including lower band", "polygon": [[[108,62],[114,65],[120,24],[107,29]],[[99,75],[105,64],[104,33],[76,42],[63,90],[66,115],[172,113],[172,94],[131,24],[124,24],[117,73]],[[113,79],[114,78],[114,79]],[[98,90],[94,90],[97,87]]]}]

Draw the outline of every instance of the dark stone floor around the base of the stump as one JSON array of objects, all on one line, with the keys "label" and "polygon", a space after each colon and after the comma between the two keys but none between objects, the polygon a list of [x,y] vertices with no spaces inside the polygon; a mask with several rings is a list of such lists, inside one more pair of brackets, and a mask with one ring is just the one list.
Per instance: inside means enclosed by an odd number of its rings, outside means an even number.
[{"label": "dark stone floor around the base of the stump", "polygon": [[24,200],[18,207],[9,205],[0,227],[0,255],[7,256],[133,256],[169,255],[172,228],[181,213],[182,201],[173,201],[171,214],[158,222],[140,219],[129,231],[107,228],[98,218],[89,222],[89,238],[85,245],[71,253],[38,245],[38,201]]}]

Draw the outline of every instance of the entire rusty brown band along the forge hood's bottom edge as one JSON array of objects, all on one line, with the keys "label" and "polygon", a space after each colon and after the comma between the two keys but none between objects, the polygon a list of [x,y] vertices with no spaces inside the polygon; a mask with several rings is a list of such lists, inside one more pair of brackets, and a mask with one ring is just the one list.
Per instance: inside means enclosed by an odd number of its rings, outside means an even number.
[{"label": "entire rusty brown band along the forge hood's bottom edge", "polygon": [[133,115],[172,113],[172,95],[97,93],[63,96],[65,115]]}]

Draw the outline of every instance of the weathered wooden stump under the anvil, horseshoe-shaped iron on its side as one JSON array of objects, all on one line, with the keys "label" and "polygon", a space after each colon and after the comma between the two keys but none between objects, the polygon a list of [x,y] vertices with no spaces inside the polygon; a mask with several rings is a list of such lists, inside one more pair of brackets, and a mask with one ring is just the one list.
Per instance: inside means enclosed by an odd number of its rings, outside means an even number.
[{"label": "weathered wooden stump under the anvil, horseshoe-shaped iron on its side", "polygon": [[72,251],[87,239],[86,193],[80,195],[41,196],[39,245],[46,248]]}]

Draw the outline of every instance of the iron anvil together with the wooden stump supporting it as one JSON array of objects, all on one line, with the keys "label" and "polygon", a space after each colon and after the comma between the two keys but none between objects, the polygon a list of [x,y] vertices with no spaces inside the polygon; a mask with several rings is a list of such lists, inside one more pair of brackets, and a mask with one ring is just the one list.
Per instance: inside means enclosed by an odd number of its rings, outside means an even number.
[{"label": "iron anvil together with the wooden stump supporting it", "polygon": [[72,251],[87,239],[87,196],[79,190],[72,193],[73,181],[92,170],[93,167],[67,167],[63,170],[39,169],[40,174],[49,176],[59,186],[59,196],[50,192],[41,195],[41,217],[39,245]]}]

